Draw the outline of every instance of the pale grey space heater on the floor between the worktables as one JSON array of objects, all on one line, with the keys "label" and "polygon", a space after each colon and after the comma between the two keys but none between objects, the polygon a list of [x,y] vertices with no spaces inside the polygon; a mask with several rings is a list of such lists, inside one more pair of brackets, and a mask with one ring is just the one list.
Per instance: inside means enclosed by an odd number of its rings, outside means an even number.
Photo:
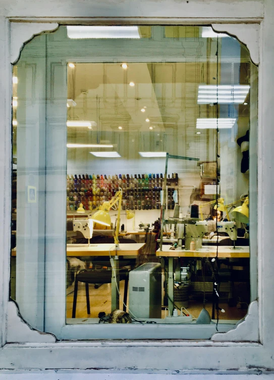
[{"label": "pale grey space heater on the floor between the worktables", "polygon": [[146,263],[129,272],[129,310],[133,317],[161,318],[161,264]]}]

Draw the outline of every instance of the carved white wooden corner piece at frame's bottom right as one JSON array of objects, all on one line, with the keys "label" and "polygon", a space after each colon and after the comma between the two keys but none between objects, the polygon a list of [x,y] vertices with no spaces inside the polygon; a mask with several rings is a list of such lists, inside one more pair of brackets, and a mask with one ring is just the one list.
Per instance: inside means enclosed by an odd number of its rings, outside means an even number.
[{"label": "carved white wooden corner piece at frame's bottom right", "polygon": [[258,342],[259,341],[258,302],[253,301],[248,307],[248,314],[241,319],[236,328],[227,333],[216,333],[211,341],[215,342]]}]

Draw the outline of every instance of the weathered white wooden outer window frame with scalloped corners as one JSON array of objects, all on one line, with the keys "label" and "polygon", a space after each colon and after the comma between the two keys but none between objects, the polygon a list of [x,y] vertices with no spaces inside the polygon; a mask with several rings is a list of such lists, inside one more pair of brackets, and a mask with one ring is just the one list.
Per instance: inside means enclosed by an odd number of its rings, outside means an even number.
[{"label": "weathered white wooden outer window frame with scalloped corners", "polygon": [[[273,207],[273,173],[271,165],[273,162],[273,149],[271,141],[274,138],[272,128],[274,88],[269,86],[269,78],[272,76],[272,63],[274,62],[274,43],[272,38],[272,20],[274,17],[274,6],[270,0],[263,2],[247,1],[233,8],[229,2],[213,1],[212,4],[202,4],[199,10],[193,6],[179,7],[177,12],[179,18],[163,18],[165,13],[157,13],[158,18],[147,17],[144,19],[115,18],[109,10],[103,13],[105,19],[80,19],[87,15],[85,7],[80,7],[77,12],[70,10],[66,18],[65,5],[63,12],[57,21],[71,24],[79,23],[106,23],[106,24],[224,24],[224,31],[234,33],[241,40],[241,30],[249,30],[244,33],[245,38],[250,37],[251,31],[256,27],[243,24],[249,22],[257,25],[257,32],[253,36],[259,39],[259,123],[258,123],[258,300],[254,301],[245,321],[229,333],[223,334],[223,338],[211,341],[91,341],[91,342],[56,342],[53,336],[41,334],[32,330],[21,320],[17,314],[15,304],[8,301],[9,294],[9,256],[10,256],[10,204],[11,204],[11,55],[13,52],[11,44],[11,24],[19,21],[11,15],[1,17],[1,50],[0,57],[1,73],[0,83],[2,86],[2,99],[0,103],[2,120],[0,141],[0,174],[3,178],[3,186],[0,189],[0,212],[3,222],[1,230],[0,260],[3,268],[2,281],[0,282],[0,320],[1,320],[1,342],[2,353],[0,356],[1,368],[157,368],[157,369],[220,369],[230,368],[272,368],[272,287],[273,287],[273,260],[271,257],[271,221]],[[142,3],[144,4],[144,3]],[[178,4],[178,3],[176,3]],[[263,5],[266,10],[263,14]],[[148,5],[148,14],[153,10]],[[165,7],[164,7],[165,8]],[[237,8],[237,18],[235,18]],[[166,15],[170,14],[166,9]],[[56,19],[43,18],[46,6],[42,10],[36,10],[40,19],[28,19],[24,11],[20,10],[22,16],[19,18],[36,25],[32,34],[47,30],[38,26],[37,21],[52,22]],[[185,11],[185,12],[184,12]],[[16,14],[14,10],[12,14]],[[19,12],[19,13],[20,13]],[[41,12],[41,13],[39,13]],[[74,13],[76,12],[76,13]],[[89,13],[90,14],[90,10]],[[97,12],[97,13],[96,13]],[[98,10],[96,15],[99,16]],[[80,13],[80,14],[79,14]],[[110,14],[109,14],[110,13]],[[115,12],[114,12],[115,13]],[[138,12],[137,12],[138,13]],[[142,13],[142,12],[141,12]],[[194,19],[194,15],[196,18]],[[214,15],[214,17],[212,17]],[[72,18],[72,16],[79,17]],[[140,15],[141,17],[142,15]],[[147,16],[147,15],[146,15]],[[107,17],[111,17],[110,19]],[[232,25],[225,25],[227,23]],[[237,25],[235,25],[237,24]],[[22,25],[21,25],[22,26]],[[218,26],[218,25],[217,25]],[[23,27],[23,26],[22,26]],[[19,28],[20,29],[20,28]],[[23,27],[24,29],[24,27]],[[31,36],[26,33],[24,38],[18,32],[15,40],[25,42]],[[232,30],[231,29],[231,30]],[[222,30],[218,26],[215,30]],[[239,32],[238,32],[239,31]],[[252,33],[251,33],[252,35]],[[22,38],[21,38],[21,37]],[[247,41],[244,41],[248,43]],[[252,50],[252,49],[251,49]],[[255,49],[256,51],[256,49]],[[222,336],[222,335],[221,335]],[[215,336],[216,337],[216,336]],[[81,337],[86,339],[85,337]],[[38,350],[39,348],[39,350]],[[66,350],[64,350],[66,348]],[[190,349],[191,348],[191,349]],[[210,352],[210,354],[209,354]],[[16,358],[15,358],[16,355]],[[200,358],[200,362],[197,358]],[[106,360],[106,358],[108,360]]]}]

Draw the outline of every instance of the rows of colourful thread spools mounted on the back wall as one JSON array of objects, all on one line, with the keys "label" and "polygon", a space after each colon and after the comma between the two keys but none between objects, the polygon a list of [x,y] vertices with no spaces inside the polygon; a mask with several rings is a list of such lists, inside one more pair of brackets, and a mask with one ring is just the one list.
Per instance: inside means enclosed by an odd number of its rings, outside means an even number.
[{"label": "rows of colourful thread spools mounted on the back wall", "polygon": [[[168,175],[170,186],[178,185],[178,174]],[[67,210],[73,212],[82,203],[85,210],[94,210],[105,201],[110,201],[119,187],[123,191],[122,209],[160,209],[160,191],[163,175],[160,174],[115,174],[115,175],[68,175]],[[169,192],[168,208],[174,208],[172,187]]]}]

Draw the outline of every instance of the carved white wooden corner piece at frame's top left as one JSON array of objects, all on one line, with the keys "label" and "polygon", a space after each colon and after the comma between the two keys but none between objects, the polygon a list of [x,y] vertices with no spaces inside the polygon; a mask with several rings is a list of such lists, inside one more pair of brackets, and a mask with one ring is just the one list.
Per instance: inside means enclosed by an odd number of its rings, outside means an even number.
[{"label": "carved white wooden corner piece at frame's top left", "polygon": [[24,43],[31,40],[33,36],[57,28],[56,23],[11,23],[11,63],[18,60]]}]

